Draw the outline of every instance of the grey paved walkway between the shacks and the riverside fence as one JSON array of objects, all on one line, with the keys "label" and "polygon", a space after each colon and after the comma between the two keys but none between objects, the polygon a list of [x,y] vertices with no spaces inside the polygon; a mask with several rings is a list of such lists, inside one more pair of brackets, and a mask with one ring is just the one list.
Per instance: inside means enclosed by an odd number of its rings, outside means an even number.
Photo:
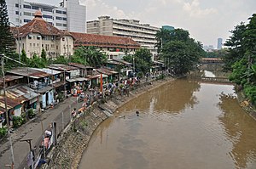
[{"label": "grey paved walkway between the shacks and the riverside fence", "polygon": [[[29,144],[26,142],[20,142],[20,139],[32,138],[32,147],[34,147],[38,140],[42,138],[43,130],[41,121],[45,130],[46,127],[49,127],[49,124],[52,121],[58,119],[58,116],[61,116],[63,111],[65,119],[69,120],[69,105],[71,104],[71,109],[73,109],[79,107],[82,103],[79,103],[78,105],[76,104],[76,98],[68,98],[60,104],[56,104],[54,108],[44,111],[44,113],[41,115],[37,115],[35,119],[28,121],[26,124],[19,127],[14,133],[11,134],[15,157],[15,168],[18,168],[20,164],[26,160],[26,155],[29,153]],[[8,166],[5,165],[9,165],[11,163],[9,141],[1,144],[0,146],[0,161],[1,169],[8,168]]]}]

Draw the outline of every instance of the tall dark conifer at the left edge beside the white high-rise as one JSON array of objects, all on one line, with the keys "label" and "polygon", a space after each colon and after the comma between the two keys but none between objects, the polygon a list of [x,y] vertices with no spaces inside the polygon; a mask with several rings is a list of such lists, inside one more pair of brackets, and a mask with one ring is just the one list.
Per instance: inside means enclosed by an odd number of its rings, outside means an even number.
[{"label": "tall dark conifer at the left edge beside the white high-rise", "polygon": [[10,32],[8,11],[5,0],[0,0],[0,54],[14,54],[15,38]]}]

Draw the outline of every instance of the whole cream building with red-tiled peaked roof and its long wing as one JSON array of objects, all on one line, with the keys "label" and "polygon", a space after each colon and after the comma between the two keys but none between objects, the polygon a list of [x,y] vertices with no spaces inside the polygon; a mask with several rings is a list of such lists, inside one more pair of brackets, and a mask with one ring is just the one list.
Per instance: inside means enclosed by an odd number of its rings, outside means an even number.
[{"label": "whole cream building with red-tiled peaked roof and its long wing", "polygon": [[34,19],[26,25],[11,27],[16,39],[16,52],[24,49],[26,56],[41,55],[44,48],[48,57],[73,55],[73,48],[94,46],[108,54],[109,59],[122,59],[125,54],[134,54],[140,44],[129,37],[93,35],[79,32],[61,31],[43,19],[38,10]]}]

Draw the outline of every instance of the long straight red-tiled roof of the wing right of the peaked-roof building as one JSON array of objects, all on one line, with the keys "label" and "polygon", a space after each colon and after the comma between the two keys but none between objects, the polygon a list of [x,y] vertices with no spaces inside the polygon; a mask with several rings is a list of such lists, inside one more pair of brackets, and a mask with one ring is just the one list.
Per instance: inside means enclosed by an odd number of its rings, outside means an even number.
[{"label": "long straight red-tiled roof of the wing right of the peaked-roof building", "polygon": [[140,48],[140,44],[130,37],[114,37],[96,34],[71,32],[75,38],[75,46],[96,46],[96,47],[119,47],[119,48]]}]

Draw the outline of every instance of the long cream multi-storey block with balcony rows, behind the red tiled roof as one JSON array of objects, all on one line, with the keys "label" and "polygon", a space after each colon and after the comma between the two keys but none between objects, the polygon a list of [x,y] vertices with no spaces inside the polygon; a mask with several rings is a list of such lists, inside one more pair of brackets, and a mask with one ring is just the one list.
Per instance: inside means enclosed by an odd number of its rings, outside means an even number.
[{"label": "long cream multi-storey block with balcony rows, behind the red tiled roof", "polygon": [[148,24],[140,24],[139,20],[115,20],[109,16],[101,16],[98,19],[87,22],[87,33],[131,37],[142,48],[148,48],[153,55],[157,54],[157,50],[154,48],[157,42],[155,34],[160,28]]}]

